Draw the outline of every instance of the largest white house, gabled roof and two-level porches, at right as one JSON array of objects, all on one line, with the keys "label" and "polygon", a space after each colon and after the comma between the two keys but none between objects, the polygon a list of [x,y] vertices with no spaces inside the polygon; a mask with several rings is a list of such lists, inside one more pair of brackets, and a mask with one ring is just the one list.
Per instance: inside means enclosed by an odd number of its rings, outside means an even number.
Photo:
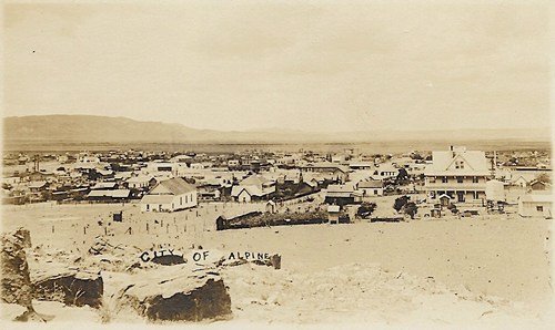
[{"label": "largest white house, gabled roof and two-level porches, at right", "polygon": [[433,152],[432,162],[424,171],[428,203],[485,202],[491,172],[484,152],[451,146],[448,151]]}]

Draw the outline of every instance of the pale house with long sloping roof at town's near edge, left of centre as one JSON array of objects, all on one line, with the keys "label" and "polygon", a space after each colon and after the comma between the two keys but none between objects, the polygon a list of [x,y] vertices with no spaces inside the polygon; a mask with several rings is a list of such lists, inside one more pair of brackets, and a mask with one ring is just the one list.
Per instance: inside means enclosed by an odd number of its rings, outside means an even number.
[{"label": "pale house with long sloping roof at town's near edge, left of centre", "polygon": [[196,187],[181,177],[160,182],[141,199],[141,212],[174,212],[198,205]]}]

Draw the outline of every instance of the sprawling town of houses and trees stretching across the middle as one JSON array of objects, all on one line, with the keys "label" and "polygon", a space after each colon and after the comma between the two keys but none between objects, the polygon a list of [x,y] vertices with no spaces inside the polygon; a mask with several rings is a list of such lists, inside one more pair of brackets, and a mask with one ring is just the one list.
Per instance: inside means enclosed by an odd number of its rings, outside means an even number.
[{"label": "sprawling town of houses and trees stretching across the middle", "polygon": [[8,175],[4,169],[2,197],[11,204],[134,202],[143,212],[174,212],[200,202],[284,200],[321,190],[325,203],[337,206],[424,192],[426,202],[440,207],[495,202],[518,204],[522,216],[551,217],[551,168],[545,165],[549,161],[543,153],[536,155],[542,157],[542,166],[514,166],[500,162],[497,154],[457,146],[395,156],[353,149],[336,154],[14,154],[4,156],[4,168],[17,169]]}]

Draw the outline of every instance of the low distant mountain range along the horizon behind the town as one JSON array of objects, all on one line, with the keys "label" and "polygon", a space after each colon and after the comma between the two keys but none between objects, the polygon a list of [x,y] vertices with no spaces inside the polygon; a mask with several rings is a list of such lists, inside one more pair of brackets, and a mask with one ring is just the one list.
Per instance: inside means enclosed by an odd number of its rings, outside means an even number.
[{"label": "low distant mountain range along the horizon behind the town", "polygon": [[483,141],[548,142],[548,127],[533,130],[430,130],[311,133],[287,128],[223,132],[181,124],[140,122],[94,115],[13,116],[3,120],[7,142],[68,143],[342,143],[375,141]]}]

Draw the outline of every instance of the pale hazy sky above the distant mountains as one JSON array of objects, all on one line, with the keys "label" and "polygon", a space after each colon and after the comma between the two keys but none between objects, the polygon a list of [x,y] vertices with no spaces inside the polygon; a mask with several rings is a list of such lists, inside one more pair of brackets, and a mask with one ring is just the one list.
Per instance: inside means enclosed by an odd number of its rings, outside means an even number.
[{"label": "pale hazy sky above the distant mountains", "polygon": [[4,4],[3,115],[549,125],[549,1],[176,2]]}]

